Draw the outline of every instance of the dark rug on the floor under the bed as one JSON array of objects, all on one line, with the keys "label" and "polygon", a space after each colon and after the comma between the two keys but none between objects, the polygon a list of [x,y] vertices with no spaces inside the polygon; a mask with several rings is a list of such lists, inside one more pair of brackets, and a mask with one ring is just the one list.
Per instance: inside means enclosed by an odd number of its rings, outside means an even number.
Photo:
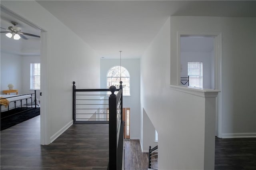
[{"label": "dark rug on the floor under the bed", "polygon": [[[21,122],[24,122],[28,119],[36,117],[40,115],[40,108],[32,108],[27,110],[28,108],[22,107],[17,109],[12,109],[10,111],[5,111],[1,113],[1,130],[17,125]],[[27,111],[26,111],[27,110]],[[17,112],[21,112],[18,113]]]}]

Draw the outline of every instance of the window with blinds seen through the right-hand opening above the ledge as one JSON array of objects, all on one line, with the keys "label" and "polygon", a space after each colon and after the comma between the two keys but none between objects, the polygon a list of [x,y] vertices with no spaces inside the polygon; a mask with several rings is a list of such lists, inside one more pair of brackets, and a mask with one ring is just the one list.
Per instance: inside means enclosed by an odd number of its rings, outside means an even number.
[{"label": "window with blinds seen through the right-hand opening above the ledge", "polygon": [[189,86],[203,88],[203,63],[188,62]]}]

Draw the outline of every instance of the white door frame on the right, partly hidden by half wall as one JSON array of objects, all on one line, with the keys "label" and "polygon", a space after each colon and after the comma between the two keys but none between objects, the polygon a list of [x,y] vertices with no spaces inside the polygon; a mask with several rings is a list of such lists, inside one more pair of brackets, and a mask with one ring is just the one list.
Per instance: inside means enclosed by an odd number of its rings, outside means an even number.
[{"label": "white door frame on the right, partly hidden by half wall", "polygon": [[[221,32],[177,32],[177,73],[180,83],[180,37],[181,36],[203,36],[214,38],[214,89],[222,91],[222,33]],[[222,138],[222,93],[216,97],[216,127],[215,135]]]}]

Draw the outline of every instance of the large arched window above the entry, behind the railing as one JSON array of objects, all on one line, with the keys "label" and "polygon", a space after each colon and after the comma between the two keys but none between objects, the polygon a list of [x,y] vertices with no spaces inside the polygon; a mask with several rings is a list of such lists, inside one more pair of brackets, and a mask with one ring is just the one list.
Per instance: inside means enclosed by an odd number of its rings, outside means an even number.
[{"label": "large arched window above the entry, behind the railing", "polygon": [[126,68],[120,66],[114,66],[109,69],[107,74],[107,88],[114,85],[119,88],[120,85],[120,73],[121,73],[121,81],[123,82],[123,95],[130,96],[130,74]]}]

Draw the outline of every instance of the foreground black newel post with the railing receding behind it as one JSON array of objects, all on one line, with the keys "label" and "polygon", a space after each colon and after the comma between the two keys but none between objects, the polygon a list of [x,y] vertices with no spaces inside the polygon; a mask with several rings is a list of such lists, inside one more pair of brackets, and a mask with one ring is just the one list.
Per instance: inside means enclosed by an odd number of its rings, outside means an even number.
[{"label": "foreground black newel post with the railing receding behind it", "polygon": [[109,97],[109,163],[108,170],[122,170],[124,122],[122,121],[122,81],[117,95],[115,86],[110,86]]}]

